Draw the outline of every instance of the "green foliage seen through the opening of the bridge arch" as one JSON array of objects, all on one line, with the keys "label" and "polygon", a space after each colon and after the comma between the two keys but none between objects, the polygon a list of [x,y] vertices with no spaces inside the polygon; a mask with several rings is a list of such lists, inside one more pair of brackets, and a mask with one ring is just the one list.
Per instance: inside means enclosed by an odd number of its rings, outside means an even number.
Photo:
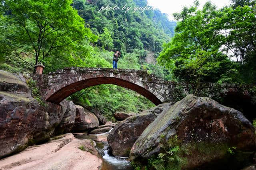
[{"label": "green foliage seen through the opening of the bridge arch", "polygon": [[[103,115],[110,121],[116,111],[138,113],[154,104],[136,92],[116,85],[98,85],[76,92],[68,98],[84,107],[100,108]],[[86,102],[90,101],[90,105]]]}]

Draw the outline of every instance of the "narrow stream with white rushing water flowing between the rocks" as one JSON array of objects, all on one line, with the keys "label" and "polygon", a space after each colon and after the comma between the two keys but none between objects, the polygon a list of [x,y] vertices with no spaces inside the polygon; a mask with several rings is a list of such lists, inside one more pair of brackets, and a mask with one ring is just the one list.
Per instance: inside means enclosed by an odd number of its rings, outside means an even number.
[{"label": "narrow stream with white rushing water flowing between the rocks", "polygon": [[[111,129],[112,130],[112,129]],[[110,131],[111,131],[110,130]],[[98,135],[76,135],[74,136],[78,139],[92,139],[96,142],[96,149],[102,158],[101,170],[134,170],[132,168],[130,159],[127,157],[115,157],[111,155],[108,142],[98,142],[96,139],[108,135],[109,132],[101,133]]]}]

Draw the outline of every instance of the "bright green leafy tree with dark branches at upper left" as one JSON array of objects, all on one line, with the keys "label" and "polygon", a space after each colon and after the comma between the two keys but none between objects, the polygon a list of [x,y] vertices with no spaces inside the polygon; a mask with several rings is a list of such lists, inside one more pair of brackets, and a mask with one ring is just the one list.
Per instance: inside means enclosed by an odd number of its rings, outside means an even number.
[{"label": "bright green leafy tree with dark branches at upper left", "polygon": [[7,47],[2,52],[18,59],[21,59],[20,51],[34,53],[34,64],[70,60],[70,53],[79,51],[81,42],[97,39],[84,27],[83,19],[71,3],[72,0],[5,0],[0,10],[11,14],[4,16],[3,36],[8,41],[0,42],[0,46]]}]

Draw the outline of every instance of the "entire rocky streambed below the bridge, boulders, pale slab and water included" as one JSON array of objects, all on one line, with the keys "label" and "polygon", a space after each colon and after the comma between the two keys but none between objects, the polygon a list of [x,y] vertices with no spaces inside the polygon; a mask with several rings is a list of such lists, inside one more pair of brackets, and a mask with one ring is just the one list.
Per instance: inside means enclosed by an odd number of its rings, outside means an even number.
[{"label": "entire rocky streambed below the bridge, boulders, pale slab and water included", "polygon": [[130,160],[136,169],[236,170],[256,163],[252,123],[207,97],[114,116],[118,123],[68,100],[42,106],[22,76],[0,71],[0,170],[130,170]]}]

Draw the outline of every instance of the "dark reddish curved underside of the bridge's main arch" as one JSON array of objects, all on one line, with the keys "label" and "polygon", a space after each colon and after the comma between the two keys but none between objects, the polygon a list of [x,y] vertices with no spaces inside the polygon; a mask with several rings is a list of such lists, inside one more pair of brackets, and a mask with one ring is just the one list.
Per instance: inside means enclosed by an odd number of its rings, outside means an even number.
[{"label": "dark reddish curved underside of the bridge's main arch", "polygon": [[82,89],[88,88],[90,86],[100,85],[100,84],[114,84],[117,86],[128,88],[130,90],[138,92],[145,98],[148,98],[148,100],[150,100],[155,105],[162,103],[154,94],[152,94],[150,91],[146,90],[145,88],[142,88],[141,86],[138,86],[137,84],[134,84],[127,80],[114,78],[114,77],[98,77],[98,78],[90,78],[90,79],[74,82],[72,84],[69,84],[61,88],[60,90],[52,94],[49,98],[46,99],[46,102],[60,104],[60,102],[65,98],[67,98],[68,96]]}]

